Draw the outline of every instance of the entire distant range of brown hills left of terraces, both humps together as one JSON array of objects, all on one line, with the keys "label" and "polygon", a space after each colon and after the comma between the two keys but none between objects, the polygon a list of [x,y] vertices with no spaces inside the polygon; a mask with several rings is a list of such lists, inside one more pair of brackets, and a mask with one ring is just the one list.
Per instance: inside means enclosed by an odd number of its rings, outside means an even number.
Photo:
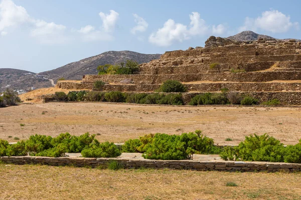
[{"label": "entire distant range of brown hills left of terraces, both humps together", "polygon": [[76,62],[71,62],[59,68],[34,73],[25,70],[0,68],[0,92],[6,88],[30,89],[53,86],[52,81],[58,78],[77,80],[85,74],[97,74],[96,67],[102,64],[116,64],[127,59],[136,60],[138,63],[159,59],[161,54],[143,54],[133,51],[107,51],[99,55],[88,57]]}]

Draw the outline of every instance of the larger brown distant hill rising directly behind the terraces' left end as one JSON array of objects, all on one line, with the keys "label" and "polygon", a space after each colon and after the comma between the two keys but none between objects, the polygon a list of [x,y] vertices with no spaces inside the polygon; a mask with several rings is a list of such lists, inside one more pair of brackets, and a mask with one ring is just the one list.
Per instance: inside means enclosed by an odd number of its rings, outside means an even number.
[{"label": "larger brown distant hill rising directly behind the terraces' left end", "polygon": [[128,50],[107,51],[99,55],[71,62],[53,70],[41,72],[39,75],[48,76],[55,82],[60,77],[71,80],[80,80],[85,74],[97,74],[96,67],[102,64],[116,64],[126,61],[127,59],[136,60],[138,63],[144,63],[153,59],[159,59],[160,56],[161,54],[143,54]]}]

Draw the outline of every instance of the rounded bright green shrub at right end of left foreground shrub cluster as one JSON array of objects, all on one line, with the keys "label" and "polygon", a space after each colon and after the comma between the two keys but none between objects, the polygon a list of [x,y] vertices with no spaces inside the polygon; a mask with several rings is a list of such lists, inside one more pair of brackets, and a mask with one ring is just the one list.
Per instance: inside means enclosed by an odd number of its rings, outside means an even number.
[{"label": "rounded bright green shrub at right end of left foreground shrub cluster", "polygon": [[120,150],[113,142],[99,143],[96,139],[89,147],[81,151],[83,157],[117,157],[121,155]]}]

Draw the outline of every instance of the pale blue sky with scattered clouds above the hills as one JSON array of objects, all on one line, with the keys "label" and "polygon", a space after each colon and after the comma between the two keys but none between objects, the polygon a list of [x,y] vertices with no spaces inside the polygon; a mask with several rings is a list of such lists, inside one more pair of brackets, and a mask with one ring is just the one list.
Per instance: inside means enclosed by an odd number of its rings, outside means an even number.
[{"label": "pale blue sky with scattered clouds above the hills", "polygon": [[0,68],[51,70],[108,50],[164,53],[253,30],[301,38],[290,0],[0,0]]}]

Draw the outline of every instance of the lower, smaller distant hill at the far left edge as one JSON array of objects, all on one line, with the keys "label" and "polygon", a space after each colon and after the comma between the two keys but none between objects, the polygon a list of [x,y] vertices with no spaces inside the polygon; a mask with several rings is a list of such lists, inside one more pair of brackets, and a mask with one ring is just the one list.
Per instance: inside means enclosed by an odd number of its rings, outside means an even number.
[{"label": "lower, smaller distant hill at the far left edge", "polygon": [[0,92],[6,88],[30,89],[49,87],[51,82],[36,73],[13,68],[0,68]]}]

